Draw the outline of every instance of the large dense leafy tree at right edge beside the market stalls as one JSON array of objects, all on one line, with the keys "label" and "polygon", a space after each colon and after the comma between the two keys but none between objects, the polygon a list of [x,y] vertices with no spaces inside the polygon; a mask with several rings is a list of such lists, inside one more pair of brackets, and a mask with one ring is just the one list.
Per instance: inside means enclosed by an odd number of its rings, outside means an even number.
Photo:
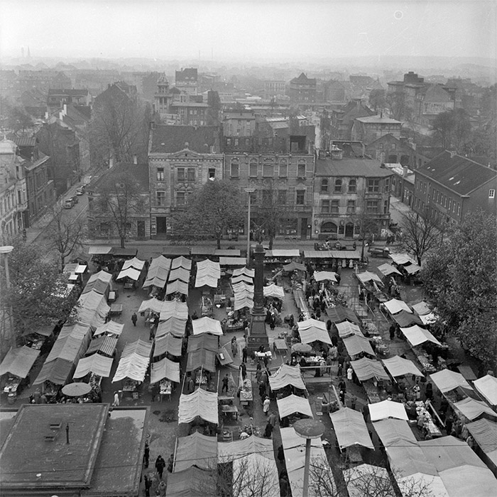
[{"label": "large dense leafy tree at right edge beside the market stalls", "polygon": [[496,216],[469,213],[427,258],[422,279],[448,333],[486,367],[496,366]]}]

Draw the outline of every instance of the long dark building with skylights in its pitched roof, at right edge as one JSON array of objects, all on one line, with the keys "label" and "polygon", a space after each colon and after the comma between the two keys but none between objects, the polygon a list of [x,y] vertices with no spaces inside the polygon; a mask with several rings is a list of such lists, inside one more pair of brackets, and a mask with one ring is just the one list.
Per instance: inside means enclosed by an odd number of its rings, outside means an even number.
[{"label": "long dark building with skylights in its pitched roof, at right edge", "polygon": [[445,150],[415,171],[416,212],[439,223],[460,223],[467,213],[496,213],[497,172]]}]

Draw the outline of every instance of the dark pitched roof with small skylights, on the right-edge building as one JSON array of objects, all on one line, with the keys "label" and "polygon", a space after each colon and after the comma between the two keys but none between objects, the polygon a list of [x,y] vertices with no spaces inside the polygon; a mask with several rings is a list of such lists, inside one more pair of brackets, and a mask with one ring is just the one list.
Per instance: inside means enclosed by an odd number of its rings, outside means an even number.
[{"label": "dark pitched roof with small skylights, on the right-edge building", "polygon": [[459,195],[469,195],[491,180],[495,182],[497,172],[474,160],[445,150],[416,170]]}]

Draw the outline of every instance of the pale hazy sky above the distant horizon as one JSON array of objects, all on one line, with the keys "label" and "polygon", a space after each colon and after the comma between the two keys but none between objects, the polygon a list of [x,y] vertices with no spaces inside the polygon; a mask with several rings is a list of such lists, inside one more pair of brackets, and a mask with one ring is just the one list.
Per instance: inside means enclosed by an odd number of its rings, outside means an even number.
[{"label": "pale hazy sky above the distant horizon", "polygon": [[1,0],[0,54],[496,59],[489,0]]}]

